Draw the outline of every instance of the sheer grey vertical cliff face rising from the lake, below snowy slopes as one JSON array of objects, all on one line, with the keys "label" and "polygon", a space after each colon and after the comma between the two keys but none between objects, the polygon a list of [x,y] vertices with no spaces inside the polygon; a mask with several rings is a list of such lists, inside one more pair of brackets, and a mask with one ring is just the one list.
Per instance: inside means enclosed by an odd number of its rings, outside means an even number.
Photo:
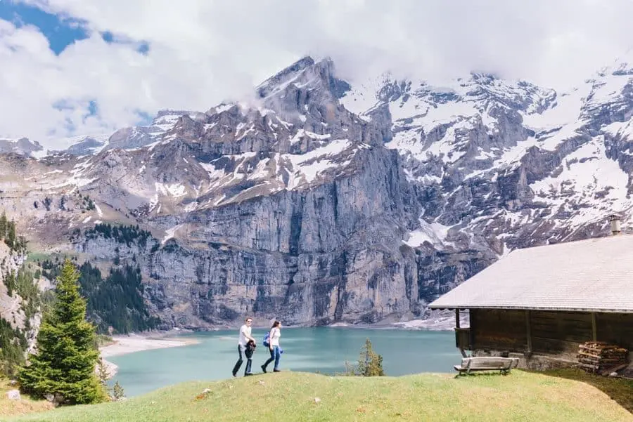
[{"label": "sheer grey vertical cliff face rising from the lake, below snowy slopes", "polygon": [[[350,176],[190,213],[189,236],[217,248],[191,266],[199,271],[198,296],[217,303],[208,315],[222,317],[226,305],[302,323],[409,312],[418,300],[417,271],[400,239],[418,209],[397,159],[370,148]],[[218,239],[231,247],[213,245]],[[164,270],[170,261],[161,256],[153,265]]]}]

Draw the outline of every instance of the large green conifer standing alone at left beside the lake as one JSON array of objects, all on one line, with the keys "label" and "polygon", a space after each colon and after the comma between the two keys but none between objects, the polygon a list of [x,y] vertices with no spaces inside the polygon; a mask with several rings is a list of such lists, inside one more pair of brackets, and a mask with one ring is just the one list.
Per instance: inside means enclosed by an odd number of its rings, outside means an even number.
[{"label": "large green conifer standing alone at left beside the lake", "polygon": [[95,403],[107,397],[94,373],[95,329],[85,319],[86,301],[79,295],[78,279],[67,259],[58,277],[56,302],[37,335],[37,355],[30,356],[30,364],[18,375],[25,393],[52,394],[61,404]]}]

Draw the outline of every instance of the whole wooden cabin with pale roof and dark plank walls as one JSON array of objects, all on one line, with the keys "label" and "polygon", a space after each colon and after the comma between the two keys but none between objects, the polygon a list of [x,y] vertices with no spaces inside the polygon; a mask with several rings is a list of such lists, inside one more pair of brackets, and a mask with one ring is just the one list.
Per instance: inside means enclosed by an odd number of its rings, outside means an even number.
[{"label": "whole wooden cabin with pale roof and dark plank walls", "polygon": [[[463,355],[521,357],[540,369],[575,362],[587,341],[633,351],[633,235],[517,249],[429,308],[456,311]],[[470,327],[459,327],[460,310]]]}]

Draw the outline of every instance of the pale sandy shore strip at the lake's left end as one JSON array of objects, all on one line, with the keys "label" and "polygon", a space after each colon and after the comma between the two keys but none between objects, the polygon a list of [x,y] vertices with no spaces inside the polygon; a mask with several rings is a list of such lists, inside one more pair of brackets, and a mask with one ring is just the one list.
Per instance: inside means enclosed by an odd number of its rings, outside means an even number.
[{"label": "pale sandy shore strip at the lake's left end", "polygon": [[177,338],[181,331],[162,331],[151,334],[128,334],[127,336],[113,336],[113,343],[99,348],[103,365],[106,367],[108,378],[117,374],[118,367],[108,361],[108,357],[127,355],[143,350],[177,348],[198,343],[195,338]]}]

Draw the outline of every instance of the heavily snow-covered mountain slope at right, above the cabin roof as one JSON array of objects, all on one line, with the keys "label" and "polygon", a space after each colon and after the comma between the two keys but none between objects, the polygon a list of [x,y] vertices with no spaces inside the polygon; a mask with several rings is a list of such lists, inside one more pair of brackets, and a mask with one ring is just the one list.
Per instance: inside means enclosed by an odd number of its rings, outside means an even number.
[{"label": "heavily snow-covered mountain slope at right, above the cabin roof", "polygon": [[632,135],[629,68],[618,62],[563,94],[481,74],[442,88],[385,77],[343,104],[392,121],[385,146],[433,199],[412,237],[425,239],[426,224],[435,224],[435,246],[446,235],[461,246],[507,239],[514,248],[585,236],[613,211],[629,215],[632,169],[616,160]]}]

